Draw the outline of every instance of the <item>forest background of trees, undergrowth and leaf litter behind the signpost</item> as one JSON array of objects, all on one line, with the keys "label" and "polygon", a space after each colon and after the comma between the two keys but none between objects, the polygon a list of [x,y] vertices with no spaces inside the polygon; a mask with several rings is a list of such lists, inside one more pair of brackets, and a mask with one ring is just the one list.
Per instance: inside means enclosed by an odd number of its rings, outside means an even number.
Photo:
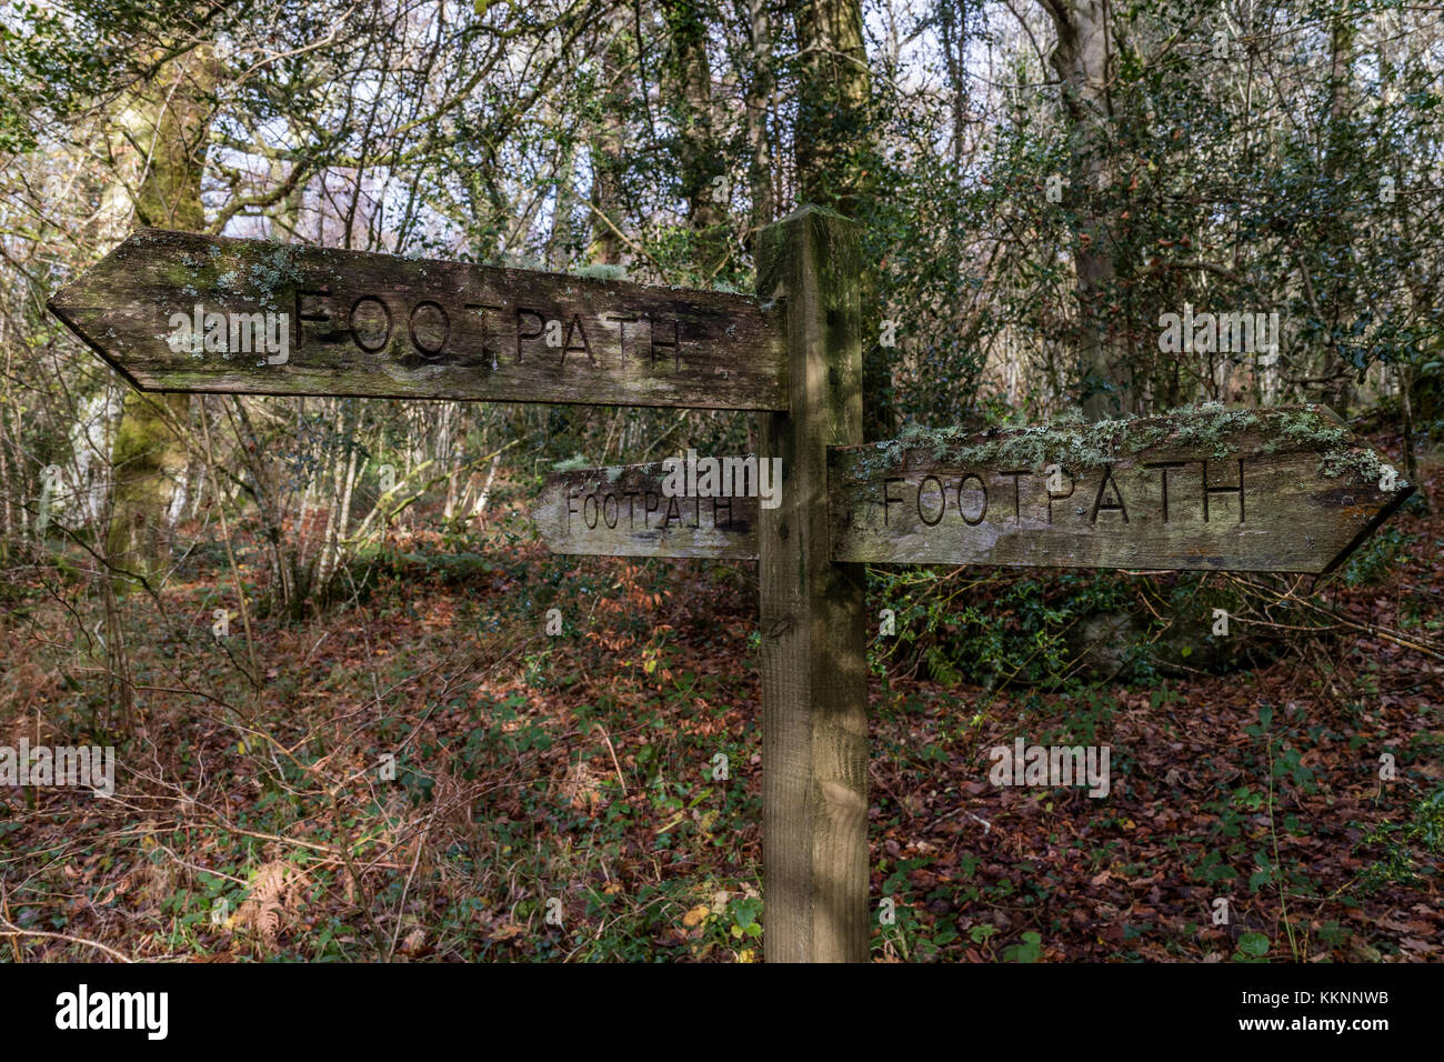
[{"label": "forest background of trees, undergrowth and leaf litter behind the signpost", "polygon": [[1441,74],[1398,0],[4,4],[0,741],[123,769],[0,793],[0,952],[758,957],[755,568],[527,519],[751,416],[147,396],[43,306],[137,225],[748,292],[813,202],[868,438],[1320,402],[1419,485],[1317,585],[871,571],[875,954],[1437,958]]}]

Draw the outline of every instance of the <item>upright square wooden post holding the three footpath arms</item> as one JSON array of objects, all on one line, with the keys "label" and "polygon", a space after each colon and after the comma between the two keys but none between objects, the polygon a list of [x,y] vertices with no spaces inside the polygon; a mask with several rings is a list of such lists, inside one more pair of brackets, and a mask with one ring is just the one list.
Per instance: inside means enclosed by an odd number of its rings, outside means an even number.
[{"label": "upright square wooden post holding the three footpath arms", "polygon": [[761,419],[781,504],[758,511],[768,962],[868,958],[862,565],[830,561],[827,446],[862,441],[856,227],[803,207],[762,230],[758,295],[787,306],[790,412]]}]

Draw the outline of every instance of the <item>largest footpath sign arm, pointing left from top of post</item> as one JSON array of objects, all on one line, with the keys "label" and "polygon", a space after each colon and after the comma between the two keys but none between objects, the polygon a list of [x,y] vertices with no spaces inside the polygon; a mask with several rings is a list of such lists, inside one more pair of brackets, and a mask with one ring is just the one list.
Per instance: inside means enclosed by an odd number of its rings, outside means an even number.
[{"label": "largest footpath sign arm, pointing left from top of post", "polygon": [[143,390],[787,403],[781,311],[725,292],[144,228],[49,308]]}]

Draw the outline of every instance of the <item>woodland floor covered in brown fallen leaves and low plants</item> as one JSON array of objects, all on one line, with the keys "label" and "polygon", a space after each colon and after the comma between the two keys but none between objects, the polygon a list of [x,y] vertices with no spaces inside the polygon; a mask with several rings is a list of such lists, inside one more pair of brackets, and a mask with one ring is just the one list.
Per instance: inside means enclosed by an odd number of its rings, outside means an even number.
[{"label": "woodland floor covered in brown fallen leaves and low plants", "polygon": [[[0,957],[760,959],[755,572],[553,558],[524,526],[400,539],[319,616],[251,617],[257,683],[241,621],[211,636],[235,595],[206,545],[126,601],[131,720],[81,559],[22,572],[0,743],[118,767],[113,799],[0,789]],[[1437,647],[1444,517],[1391,526],[1317,594]],[[874,958],[1441,958],[1438,655],[1336,626],[1227,675],[988,691],[957,663],[871,682]],[[991,785],[1019,735],[1108,744],[1112,792]]]}]

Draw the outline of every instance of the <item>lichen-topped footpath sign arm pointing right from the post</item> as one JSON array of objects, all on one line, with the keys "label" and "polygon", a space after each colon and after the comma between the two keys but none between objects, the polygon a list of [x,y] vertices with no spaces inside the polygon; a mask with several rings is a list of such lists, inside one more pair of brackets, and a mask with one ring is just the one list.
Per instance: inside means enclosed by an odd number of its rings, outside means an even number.
[{"label": "lichen-topped footpath sign arm pointing right from the post", "polygon": [[1414,490],[1385,464],[1321,406],[914,432],[830,454],[832,555],[1318,574]]}]

